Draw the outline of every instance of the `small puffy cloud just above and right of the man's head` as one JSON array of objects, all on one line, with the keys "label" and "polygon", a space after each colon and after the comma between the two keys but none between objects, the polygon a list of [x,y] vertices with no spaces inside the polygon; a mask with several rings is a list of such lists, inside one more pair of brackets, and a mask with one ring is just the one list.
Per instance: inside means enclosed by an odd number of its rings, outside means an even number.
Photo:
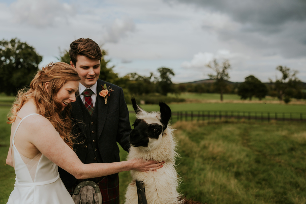
[{"label": "small puffy cloud just above and right of the man's head", "polygon": [[135,31],[135,24],[132,19],[115,19],[111,25],[105,27],[102,39],[104,43],[118,43],[121,38]]}]

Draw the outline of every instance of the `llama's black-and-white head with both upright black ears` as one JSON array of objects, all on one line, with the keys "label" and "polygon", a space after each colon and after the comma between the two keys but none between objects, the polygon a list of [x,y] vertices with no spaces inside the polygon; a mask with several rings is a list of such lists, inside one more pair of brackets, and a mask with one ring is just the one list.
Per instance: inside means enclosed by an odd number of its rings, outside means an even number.
[{"label": "llama's black-and-white head with both upright black ears", "polygon": [[129,136],[129,142],[133,147],[149,147],[154,148],[160,142],[163,131],[167,128],[168,121],[171,117],[171,109],[165,103],[160,102],[160,115],[159,113],[147,113],[139,106],[132,98],[133,108],[137,114]]}]

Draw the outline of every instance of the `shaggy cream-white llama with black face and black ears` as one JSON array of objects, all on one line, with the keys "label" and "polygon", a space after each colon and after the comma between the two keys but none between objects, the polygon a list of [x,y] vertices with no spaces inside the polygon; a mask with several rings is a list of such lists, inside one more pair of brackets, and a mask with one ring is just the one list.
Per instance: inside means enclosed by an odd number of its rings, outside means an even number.
[{"label": "shaggy cream-white llama with black face and black ears", "polygon": [[171,117],[170,107],[160,102],[160,113],[148,113],[136,104],[134,98],[132,105],[137,118],[129,136],[131,147],[128,159],[142,158],[165,163],[156,172],[131,170],[133,180],[127,187],[125,204],[138,204],[135,180],[143,182],[148,204],[193,203],[182,198],[177,192],[180,181],[175,170],[175,159],[178,154],[173,129],[168,124]]}]

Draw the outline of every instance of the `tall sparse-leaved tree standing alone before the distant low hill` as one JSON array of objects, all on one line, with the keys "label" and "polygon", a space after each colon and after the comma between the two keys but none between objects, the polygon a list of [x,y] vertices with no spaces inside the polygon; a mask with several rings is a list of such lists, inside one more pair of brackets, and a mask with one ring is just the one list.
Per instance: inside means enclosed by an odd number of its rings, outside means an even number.
[{"label": "tall sparse-leaved tree standing alone before the distant low hill", "polygon": [[223,101],[223,93],[227,88],[227,81],[230,79],[228,70],[231,69],[230,62],[224,60],[220,65],[216,59],[206,65],[208,68],[215,71],[215,74],[208,74],[210,79],[215,79],[214,85],[220,92],[220,100]]}]

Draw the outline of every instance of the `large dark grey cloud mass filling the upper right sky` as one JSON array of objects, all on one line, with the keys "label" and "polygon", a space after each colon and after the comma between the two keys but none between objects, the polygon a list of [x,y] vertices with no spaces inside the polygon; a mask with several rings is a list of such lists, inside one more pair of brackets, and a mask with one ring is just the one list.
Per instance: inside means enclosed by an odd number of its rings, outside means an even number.
[{"label": "large dark grey cloud mass filling the upper right sky", "polygon": [[259,49],[262,55],[284,57],[306,55],[306,1],[304,0],[164,0],[225,14],[236,23],[230,26],[206,25],[224,41],[237,41]]}]

